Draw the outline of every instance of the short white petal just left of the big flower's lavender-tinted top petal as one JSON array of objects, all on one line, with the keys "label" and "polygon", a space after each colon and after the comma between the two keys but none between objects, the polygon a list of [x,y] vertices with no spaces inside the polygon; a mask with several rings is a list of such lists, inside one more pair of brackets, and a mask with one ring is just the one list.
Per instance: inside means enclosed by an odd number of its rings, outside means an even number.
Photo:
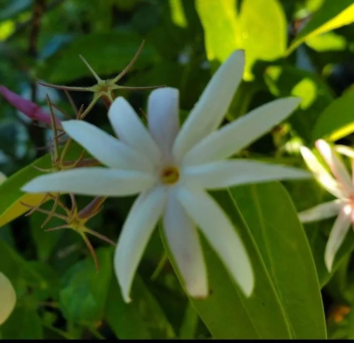
[{"label": "short white petal just left of the big flower's lavender-tinted top petal", "polygon": [[152,139],[150,132],[143,125],[134,109],[123,98],[118,97],[109,107],[108,118],[116,135],[122,142],[158,163],[161,152]]}]

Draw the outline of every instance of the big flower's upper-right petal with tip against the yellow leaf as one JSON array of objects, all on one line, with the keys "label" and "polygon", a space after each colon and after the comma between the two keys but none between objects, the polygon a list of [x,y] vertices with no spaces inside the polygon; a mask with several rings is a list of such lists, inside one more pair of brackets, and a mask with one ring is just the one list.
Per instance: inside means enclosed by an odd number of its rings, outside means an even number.
[{"label": "big flower's upper-right petal with tip against the yellow leaf", "polygon": [[242,80],[244,52],[233,52],[210,79],[177,135],[173,154],[177,161],[222,122]]}]

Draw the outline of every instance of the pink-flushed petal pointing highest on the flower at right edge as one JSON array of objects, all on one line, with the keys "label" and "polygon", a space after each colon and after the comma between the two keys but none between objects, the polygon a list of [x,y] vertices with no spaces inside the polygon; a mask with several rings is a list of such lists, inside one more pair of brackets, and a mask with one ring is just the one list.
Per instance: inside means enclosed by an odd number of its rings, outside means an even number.
[{"label": "pink-flushed petal pointing highest on the flower at right edge", "polygon": [[317,150],[320,152],[323,159],[331,169],[332,174],[337,179],[339,186],[346,196],[354,193],[354,186],[351,183],[351,178],[344,163],[339,156],[336,156],[335,151],[324,140],[318,140],[315,143]]}]

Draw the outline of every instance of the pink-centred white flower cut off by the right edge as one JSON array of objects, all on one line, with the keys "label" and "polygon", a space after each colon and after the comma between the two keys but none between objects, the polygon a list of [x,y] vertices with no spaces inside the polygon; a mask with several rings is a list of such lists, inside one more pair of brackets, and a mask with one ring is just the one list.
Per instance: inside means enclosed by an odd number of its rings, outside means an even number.
[{"label": "pink-centred white flower cut off by the right edge", "polygon": [[309,210],[299,213],[302,223],[314,222],[337,216],[329,234],[324,260],[328,271],[332,270],[335,254],[347,234],[350,223],[354,228],[354,169],[350,176],[337,152],[354,158],[350,148],[329,146],[324,140],[315,143],[317,150],[330,168],[332,175],[323,167],[315,155],[307,147],[300,151],[305,163],[312,171],[315,179],[337,199],[321,203]]}]

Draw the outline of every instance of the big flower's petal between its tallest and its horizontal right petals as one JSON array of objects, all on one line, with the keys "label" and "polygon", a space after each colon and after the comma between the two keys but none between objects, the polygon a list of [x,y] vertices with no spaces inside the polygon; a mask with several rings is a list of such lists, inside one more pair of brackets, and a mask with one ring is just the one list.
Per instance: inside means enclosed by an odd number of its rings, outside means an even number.
[{"label": "big flower's petal between its tallest and its horizontal right petals", "polygon": [[274,125],[287,118],[299,105],[289,97],[268,102],[206,136],[185,156],[185,165],[227,158],[248,146]]}]

